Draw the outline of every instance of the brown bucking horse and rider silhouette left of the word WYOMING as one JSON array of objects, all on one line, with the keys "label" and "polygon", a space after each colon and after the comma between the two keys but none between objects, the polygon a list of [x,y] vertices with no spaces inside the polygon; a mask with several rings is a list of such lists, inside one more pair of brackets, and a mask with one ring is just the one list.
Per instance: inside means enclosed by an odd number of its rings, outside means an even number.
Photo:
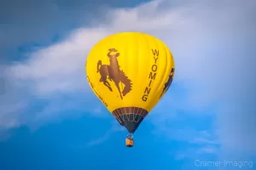
[{"label": "brown bucking horse and rider silhouette left of the word WYOMING", "polygon": [[[97,72],[100,72],[101,78],[100,82],[103,82],[105,86],[112,92],[111,85],[109,84],[107,78],[112,82],[114,82],[115,86],[119,90],[120,98],[123,99],[123,96],[128,94],[131,91],[131,80],[125,76],[125,72],[120,70],[119,62],[117,57],[119,57],[119,53],[115,48],[108,49],[108,58],[109,65],[102,65],[102,60],[99,60],[97,63]],[[125,84],[125,88],[122,93],[119,88],[119,82]]]}]

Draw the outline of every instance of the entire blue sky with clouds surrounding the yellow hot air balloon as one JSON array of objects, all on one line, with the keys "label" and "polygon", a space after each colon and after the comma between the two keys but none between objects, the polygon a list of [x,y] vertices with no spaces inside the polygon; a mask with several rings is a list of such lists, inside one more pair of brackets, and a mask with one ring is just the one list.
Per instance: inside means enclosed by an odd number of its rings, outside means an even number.
[{"label": "entire blue sky with clouds surrounding the yellow hot air balloon", "polygon": [[[253,0],[2,4],[0,170],[255,168]],[[159,37],[176,61],[131,149],[84,75],[90,48],[119,31]]]}]

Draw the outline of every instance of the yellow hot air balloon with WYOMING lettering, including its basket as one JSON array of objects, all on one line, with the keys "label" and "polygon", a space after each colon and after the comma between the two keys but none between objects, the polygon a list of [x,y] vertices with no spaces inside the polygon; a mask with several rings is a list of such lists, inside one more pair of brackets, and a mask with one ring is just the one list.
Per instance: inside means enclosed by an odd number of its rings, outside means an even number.
[{"label": "yellow hot air balloon with WYOMING lettering, including its basket", "polygon": [[164,42],[141,32],[103,38],[90,50],[85,72],[90,88],[129,134],[166,94],[174,77],[174,59]]}]

